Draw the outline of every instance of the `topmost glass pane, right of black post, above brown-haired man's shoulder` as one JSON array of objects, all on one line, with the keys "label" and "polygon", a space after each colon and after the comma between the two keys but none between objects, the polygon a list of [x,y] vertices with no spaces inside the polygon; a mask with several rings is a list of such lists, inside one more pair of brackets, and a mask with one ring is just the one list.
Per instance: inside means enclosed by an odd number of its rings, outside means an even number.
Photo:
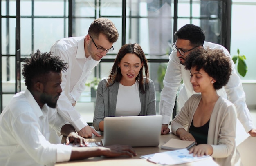
[{"label": "topmost glass pane, right of black post, above brown-haired man's shoulder", "polygon": [[95,0],[75,0],[74,4],[75,6],[73,7],[73,12],[75,17],[96,18]]}]

